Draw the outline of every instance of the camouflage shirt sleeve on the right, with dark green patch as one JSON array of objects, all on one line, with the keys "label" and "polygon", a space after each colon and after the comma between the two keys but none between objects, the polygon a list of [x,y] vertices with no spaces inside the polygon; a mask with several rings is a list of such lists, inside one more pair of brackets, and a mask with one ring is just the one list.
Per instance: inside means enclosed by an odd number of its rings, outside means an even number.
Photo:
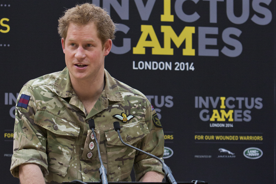
[{"label": "camouflage shirt sleeve on the right, with dark green patch", "polygon": [[[153,117],[155,117],[154,120]],[[147,99],[145,122],[150,133],[141,140],[137,148],[162,159],[164,154],[164,133],[157,114]],[[138,151],[136,151],[134,171],[136,181],[139,181],[149,171],[155,171],[164,175],[162,172],[162,163]]]}]

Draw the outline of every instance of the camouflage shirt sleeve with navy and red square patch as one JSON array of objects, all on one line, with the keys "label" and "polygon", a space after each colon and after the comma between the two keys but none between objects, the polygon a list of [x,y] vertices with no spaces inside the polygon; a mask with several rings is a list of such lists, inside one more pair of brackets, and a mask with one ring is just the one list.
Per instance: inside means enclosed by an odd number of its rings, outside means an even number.
[{"label": "camouflage shirt sleeve with navy and red square patch", "polygon": [[37,164],[43,175],[47,168],[47,134],[45,129],[34,123],[36,103],[33,90],[25,85],[18,95],[15,112],[14,146],[11,158],[11,174],[19,177],[19,165]]}]

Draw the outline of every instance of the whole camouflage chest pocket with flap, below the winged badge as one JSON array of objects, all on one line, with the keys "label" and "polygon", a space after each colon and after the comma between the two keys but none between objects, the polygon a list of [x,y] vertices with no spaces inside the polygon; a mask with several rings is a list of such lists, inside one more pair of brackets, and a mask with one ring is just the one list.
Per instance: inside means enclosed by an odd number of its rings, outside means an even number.
[{"label": "whole camouflage chest pocket with flap, below the winged badge", "polygon": [[[131,181],[130,173],[135,158],[135,150],[125,146],[112,130],[104,131],[106,137],[106,148],[108,156],[108,177],[109,181]],[[122,140],[134,147],[149,134],[147,124],[144,120],[121,125],[120,135]]]}]

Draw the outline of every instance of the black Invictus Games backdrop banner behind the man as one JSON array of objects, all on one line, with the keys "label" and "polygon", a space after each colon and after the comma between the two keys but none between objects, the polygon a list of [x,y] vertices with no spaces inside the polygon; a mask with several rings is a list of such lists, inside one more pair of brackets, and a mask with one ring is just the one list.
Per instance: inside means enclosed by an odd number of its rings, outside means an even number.
[{"label": "black Invictus Games backdrop banner behind the man", "polygon": [[[275,183],[275,1],[88,2],[118,24],[105,68],[151,101],[177,181]],[[0,0],[7,183],[18,183],[9,171],[16,98],[30,79],[65,67],[57,20],[76,3]]]}]

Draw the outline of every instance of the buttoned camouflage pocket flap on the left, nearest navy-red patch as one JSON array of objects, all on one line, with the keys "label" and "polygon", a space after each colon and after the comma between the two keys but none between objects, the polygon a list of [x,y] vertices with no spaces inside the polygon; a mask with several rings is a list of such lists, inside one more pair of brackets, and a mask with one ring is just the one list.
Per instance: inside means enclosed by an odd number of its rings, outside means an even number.
[{"label": "buttoned camouflage pocket flap on the left, nearest navy-red patch", "polygon": [[37,110],[34,123],[58,135],[77,137],[80,126],[45,109]]}]

